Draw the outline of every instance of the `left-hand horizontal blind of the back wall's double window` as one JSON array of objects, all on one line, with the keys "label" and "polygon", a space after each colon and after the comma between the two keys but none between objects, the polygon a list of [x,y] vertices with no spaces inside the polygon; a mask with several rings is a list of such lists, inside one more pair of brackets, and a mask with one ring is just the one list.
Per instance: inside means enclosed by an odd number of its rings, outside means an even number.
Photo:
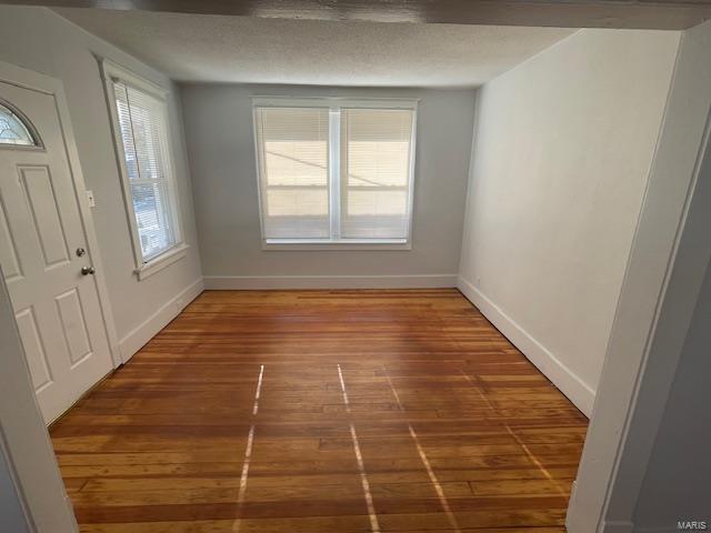
[{"label": "left-hand horizontal blind of the back wall's double window", "polygon": [[256,108],[264,239],[327,239],[328,108]]}]

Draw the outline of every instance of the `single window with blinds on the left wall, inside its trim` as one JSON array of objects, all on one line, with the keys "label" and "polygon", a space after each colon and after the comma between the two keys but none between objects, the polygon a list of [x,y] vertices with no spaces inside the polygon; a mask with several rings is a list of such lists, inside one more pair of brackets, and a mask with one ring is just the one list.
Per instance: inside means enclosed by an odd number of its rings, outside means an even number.
[{"label": "single window with blinds on the left wall, inside its trim", "polygon": [[168,117],[163,98],[119,78],[111,79],[124,189],[134,220],[134,248],[142,263],[179,243]]}]

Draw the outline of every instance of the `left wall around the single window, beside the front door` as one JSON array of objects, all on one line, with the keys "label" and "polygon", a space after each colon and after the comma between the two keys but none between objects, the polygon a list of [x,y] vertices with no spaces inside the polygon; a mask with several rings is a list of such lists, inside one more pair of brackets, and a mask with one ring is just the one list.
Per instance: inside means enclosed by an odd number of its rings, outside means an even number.
[{"label": "left wall around the single window, beside the front door", "polygon": [[[191,248],[187,258],[140,282],[133,274],[136,265],[121,181],[93,54],[171,89],[169,112],[180,211]],[[43,8],[0,7],[0,60],[58,78],[64,84],[84,180],[97,199],[93,219],[118,336],[122,351],[130,354],[172,318],[177,308],[164,305],[193,286],[201,275],[177,91],[161,73]]]}]

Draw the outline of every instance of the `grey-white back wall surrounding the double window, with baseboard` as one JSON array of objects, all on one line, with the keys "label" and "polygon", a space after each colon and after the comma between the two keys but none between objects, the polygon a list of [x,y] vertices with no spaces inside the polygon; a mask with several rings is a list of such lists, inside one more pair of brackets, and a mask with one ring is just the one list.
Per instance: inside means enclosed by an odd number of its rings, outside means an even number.
[{"label": "grey-white back wall surrounding the double window, with baseboard", "polygon": [[[412,250],[262,250],[253,94],[419,98]],[[473,94],[471,90],[183,86],[186,138],[207,286],[453,286]]]}]

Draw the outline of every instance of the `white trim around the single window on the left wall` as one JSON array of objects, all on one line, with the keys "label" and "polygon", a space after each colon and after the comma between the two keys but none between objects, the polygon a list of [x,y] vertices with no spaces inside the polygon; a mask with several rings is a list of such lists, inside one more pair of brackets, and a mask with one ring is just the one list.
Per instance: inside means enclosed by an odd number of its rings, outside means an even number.
[{"label": "white trim around the single window on the left wall", "polygon": [[116,150],[117,163],[119,172],[121,174],[121,189],[123,191],[123,204],[129,222],[131,233],[131,244],[133,247],[133,260],[136,268],[133,272],[137,274],[138,280],[144,280],[153,275],[154,273],[163,270],[166,266],[174,263],[176,261],[184,258],[188,254],[190,248],[183,242],[183,229],[182,217],[180,213],[180,198],[178,197],[178,184],[176,182],[174,169],[176,158],[173,154],[172,139],[170,137],[170,123],[168,123],[168,164],[170,165],[169,174],[171,187],[169,193],[171,195],[170,201],[173,205],[173,223],[176,224],[176,243],[163,250],[159,255],[151,258],[149,261],[143,261],[143,251],[141,250],[141,242],[138,234],[138,225],[136,222],[136,212],[133,211],[133,198],[131,195],[131,184],[129,179],[128,169],[126,168],[126,157],[123,153],[123,142],[121,141],[121,125],[119,123],[119,117],[116,109],[116,99],[113,97],[113,82],[121,80],[127,84],[133,86],[141,91],[148,92],[154,95],[163,102],[166,119],[169,121],[167,97],[170,91],[162,87],[148,81],[139,76],[134,74],[130,70],[127,70],[107,59],[99,58],[101,67],[101,76],[103,79],[103,87],[107,97],[107,104],[109,107],[109,117],[111,119],[111,131],[113,133],[113,147]]}]

